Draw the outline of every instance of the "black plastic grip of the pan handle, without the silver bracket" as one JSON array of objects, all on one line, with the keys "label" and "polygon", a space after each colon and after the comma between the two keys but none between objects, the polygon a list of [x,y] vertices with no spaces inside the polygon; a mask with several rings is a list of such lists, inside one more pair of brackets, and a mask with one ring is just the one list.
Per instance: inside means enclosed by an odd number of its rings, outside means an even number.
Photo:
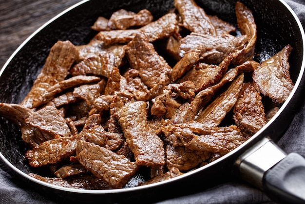
[{"label": "black plastic grip of the pan handle, without the silver bracket", "polygon": [[305,158],[290,153],[264,175],[264,191],[274,201],[305,204]]}]

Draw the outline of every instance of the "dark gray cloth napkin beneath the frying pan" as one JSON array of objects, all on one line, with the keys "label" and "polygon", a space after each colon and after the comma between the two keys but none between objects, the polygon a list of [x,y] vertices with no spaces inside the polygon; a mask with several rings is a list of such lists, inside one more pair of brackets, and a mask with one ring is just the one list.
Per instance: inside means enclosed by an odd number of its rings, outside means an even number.
[{"label": "dark gray cloth napkin beneath the frying pan", "polygon": [[[305,27],[305,0],[286,0]],[[304,88],[303,88],[304,93]],[[300,99],[302,100],[302,99]],[[305,101],[291,122],[285,135],[277,143],[286,153],[299,153],[305,157]],[[0,161],[1,204],[56,204],[50,198],[29,188],[14,177]],[[101,201],[102,203],[102,201]],[[144,202],[145,203],[145,202]],[[203,192],[171,198],[159,204],[272,204],[266,194],[240,181],[210,187]]]}]

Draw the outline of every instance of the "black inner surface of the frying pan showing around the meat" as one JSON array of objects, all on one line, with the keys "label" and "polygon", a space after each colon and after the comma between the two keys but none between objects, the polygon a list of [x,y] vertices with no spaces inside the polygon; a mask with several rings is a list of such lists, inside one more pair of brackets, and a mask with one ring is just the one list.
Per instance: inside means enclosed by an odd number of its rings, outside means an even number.
[{"label": "black inner surface of the frying pan showing around the meat", "polygon": [[[217,15],[223,20],[236,25],[235,0],[196,0],[196,2],[205,9],[207,14]],[[304,40],[302,28],[299,27],[300,24],[280,0],[244,0],[242,2],[252,10],[257,24],[258,41],[254,60],[257,62],[264,61],[282,50],[287,44],[290,44],[293,48],[289,57],[290,76],[292,81],[296,82],[301,77],[301,70],[304,69],[302,68],[304,45],[300,45],[300,42],[303,43]],[[15,52],[11,60],[2,68],[0,76],[1,102],[19,103],[22,101],[43,67],[50,48],[57,40],[70,40],[75,45],[87,44],[96,34],[90,27],[97,17],[109,18],[114,11],[120,8],[133,12],[146,8],[151,11],[154,19],[157,19],[166,14],[172,7],[173,0],[89,0],[83,1],[75,8],[63,12],[61,16],[44,25],[37,34],[27,39],[23,46]],[[34,170],[29,167],[24,159],[25,152],[26,147],[21,139],[19,128],[12,122],[0,118],[0,153],[2,154],[0,156],[24,174],[34,172],[44,175],[45,169]],[[237,155],[233,156],[233,159],[236,157]],[[222,161],[225,161],[225,159],[222,159]],[[229,164],[232,162],[227,160],[224,163]],[[219,164],[217,166],[211,164],[208,168],[205,168],[205,173],[201,173],[205,175],[200,176],[207,177],[211,175],[216,167],[219,170],[223,170],[226,165]],[[196,172],[192,177],[200,178],[198,171]],[[145,180],[145,173],[137,175],[138,179]],[[183,182],[193,181],[187,176],[182,177],[182,179]],[[173,181],[179,181],[179,178],[175,178]],[[41,185],[40,182],[38,184]],[[47,185],[47,187],[51,186]],[[130,186],[133,187],[133,184],[131,183]],[[154,184],[152,187],[160,188],[160,185]],[[91,192],[92,194],[108,193],[108,190],[90,191],[63,188],[58,190],[56,187],[54,190],[56,192],[66,190],[85,194],[91,194]],[[120,192],[120,190],[109,190],[109,192]],[[128,190],[125,188],[121,192],[128,193]]]}]

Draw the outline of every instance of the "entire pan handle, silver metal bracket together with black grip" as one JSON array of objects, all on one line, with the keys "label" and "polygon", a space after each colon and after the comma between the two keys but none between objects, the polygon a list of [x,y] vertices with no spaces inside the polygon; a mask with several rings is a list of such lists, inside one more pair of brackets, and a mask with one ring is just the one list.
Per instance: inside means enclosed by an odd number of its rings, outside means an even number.
[{"label": "entire pan handle, silver metal bracket together with black grip", "polygon": [[242,178],[261,188],[279,203],[305,203],[305,158],[286,155],[266,137],[243,153],[235,163]]}]

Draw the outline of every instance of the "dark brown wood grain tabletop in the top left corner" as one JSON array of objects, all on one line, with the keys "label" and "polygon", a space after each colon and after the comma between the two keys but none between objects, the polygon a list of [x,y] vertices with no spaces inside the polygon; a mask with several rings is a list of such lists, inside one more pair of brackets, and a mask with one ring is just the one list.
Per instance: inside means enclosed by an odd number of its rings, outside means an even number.
[{"label": "dark brown wood grain tabletop in the top left corner", "polygon": [[41,25],[80,0],[0,0],[0,68]]}]

